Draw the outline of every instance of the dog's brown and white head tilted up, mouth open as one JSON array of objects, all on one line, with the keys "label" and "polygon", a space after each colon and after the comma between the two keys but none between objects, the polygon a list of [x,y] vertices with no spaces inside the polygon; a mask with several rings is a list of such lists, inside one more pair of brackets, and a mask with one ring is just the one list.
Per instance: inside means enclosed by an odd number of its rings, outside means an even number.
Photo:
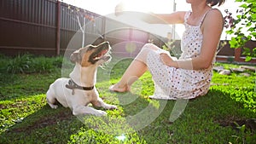
[{"label": "dog's brown and white head tilted up, mouth open", "polygon": [[108,42],[103,42],[98,45],[89,44],[84,48],[78,49],[70,55],[70,60],[73,63],[79,63],[81,66],[102,65],[104,62],[111,59],[109,55],[111,47]]}]

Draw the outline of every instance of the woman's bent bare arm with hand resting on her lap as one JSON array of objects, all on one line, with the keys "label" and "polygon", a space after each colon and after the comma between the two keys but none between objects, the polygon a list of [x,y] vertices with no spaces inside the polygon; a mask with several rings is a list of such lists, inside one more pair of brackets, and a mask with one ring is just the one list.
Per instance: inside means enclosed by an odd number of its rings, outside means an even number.
[{"label": "woman's bent bare arm with hand resting on her lap", "polygon": [[183,69],[206,69],[212,64],[212,59],[218,48],[219,39],[223,31],[223,16],[218,10],[210,11],[202,26],[203,42],[201,54],[189,60],[172,60],[168,55],[160,55],[161,60],[167,66],[180,67]]}]

